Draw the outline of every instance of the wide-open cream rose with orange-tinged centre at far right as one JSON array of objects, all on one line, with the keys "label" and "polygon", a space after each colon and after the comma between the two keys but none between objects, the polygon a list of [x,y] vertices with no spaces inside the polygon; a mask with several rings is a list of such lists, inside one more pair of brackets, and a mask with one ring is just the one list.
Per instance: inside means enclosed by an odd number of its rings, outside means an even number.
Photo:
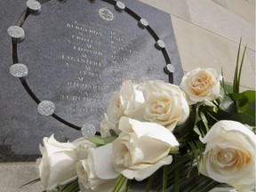
[{"label": "wide-open cream rose with orange-tinged centre at far right", "polygon": [[251,130],[244,124],[223,120],[214,124],[201,140],[206,143],[201,173],[241,191],[253,188],[256,136]]}]

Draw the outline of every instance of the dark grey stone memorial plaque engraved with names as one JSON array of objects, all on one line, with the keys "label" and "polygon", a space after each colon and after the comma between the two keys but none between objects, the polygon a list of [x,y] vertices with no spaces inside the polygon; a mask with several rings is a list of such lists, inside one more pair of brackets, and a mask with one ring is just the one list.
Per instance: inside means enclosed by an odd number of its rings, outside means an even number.
[{"label": "dark grey stone memorial plaque engraved with names", "polygon": [[[99,131],[124,79],[168,82],[174,68],[180,84],[183,75],[169,14],[129,0],[44,2],[39,9],[29,0],[28,17],[20,21],[25,38],[17,50],[13,43],[13,60],[1,70],[0,162],[35,160],[52,133],[65,141],[82,135],[73,128]],[[3,84],[10,70],[12,80]]]}]

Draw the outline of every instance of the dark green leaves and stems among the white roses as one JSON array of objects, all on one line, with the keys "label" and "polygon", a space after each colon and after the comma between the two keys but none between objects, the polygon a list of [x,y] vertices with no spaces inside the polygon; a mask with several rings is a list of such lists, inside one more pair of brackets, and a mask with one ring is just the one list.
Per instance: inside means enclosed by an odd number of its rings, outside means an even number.
[{"label": "dark green leaves and stems among the white roses", "polygon": [[[200,174],[199,166],[204,156],[205,144],[202,138],[211,130],[213,124],[220,120],[235,120],[252,127],[255,133],[255,91],[239,92],[240,79],[244,63],[246,46],[240,60],[241,40],[237,52],[236,70],[233,84],[228,84],[223,78],[221,81],[220,97],[211,100],[211,105],[203,101],[189,106],[189,116],[184,124],[177,125],[173,135],[180,143],[178,150],[171,150],[172,164],[164,165],[146,180],[140,182],[128,180],[123,174],[116,179],[112,192],[132,191],[138,186],[150,191],[183,191],[183,192],[207,192],[217,187],[220,183]],[[222,71],[222,76],[223,71]],[[95,143],[97,147],[112,143],[118,135],[111,131],[111,136],[101,138],[94,136],[87,140]],[[168,150],[169,151],[169,150]],[[58,188],[62,192],[78,192],[78,180],[75,180],[64,188]]]}]

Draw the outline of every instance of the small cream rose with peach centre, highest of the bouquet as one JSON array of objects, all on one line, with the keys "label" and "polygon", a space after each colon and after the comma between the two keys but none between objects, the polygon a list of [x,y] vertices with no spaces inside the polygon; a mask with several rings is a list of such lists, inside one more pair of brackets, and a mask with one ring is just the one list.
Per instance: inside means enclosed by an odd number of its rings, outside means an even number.
[{"label": "small cream rose with peach centre, highest of the bouquet", "polygon": [[220,79],[213,68],[196,68],[182,77],[180,88],[186,93],[189,105],[209,103],[220,96]]}]

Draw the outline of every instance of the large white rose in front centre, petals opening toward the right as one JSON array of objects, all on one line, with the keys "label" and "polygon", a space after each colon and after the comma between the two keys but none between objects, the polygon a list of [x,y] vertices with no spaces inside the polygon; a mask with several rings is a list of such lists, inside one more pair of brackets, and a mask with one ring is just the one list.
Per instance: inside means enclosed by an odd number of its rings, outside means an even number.
[{"label": "large white rose in front centre, petals opening toward the right", "polygon": [[179,143],[164,126],[122,117],[122,131],[112,142],[116,172],[128,179],[144,180],[164,164],[172,163],[171,148]]}]

